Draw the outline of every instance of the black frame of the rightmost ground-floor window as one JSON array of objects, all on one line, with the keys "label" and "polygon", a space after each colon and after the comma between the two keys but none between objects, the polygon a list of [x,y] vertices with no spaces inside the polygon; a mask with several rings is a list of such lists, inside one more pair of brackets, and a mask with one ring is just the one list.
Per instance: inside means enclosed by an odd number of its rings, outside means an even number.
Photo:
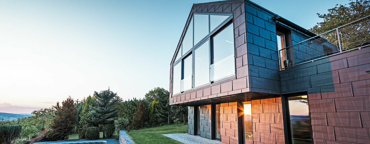
[{"label": "black frame of the rightmost ground-floor window", "polygon": [[291,119],[290,119],[290,112],[289,112],[289,97],[294,96],[303,96],[307,95],[307,107],[310,119],[310,129],[311,129],[311,139],[313,140],[313,133],[312,133],[312,119],[311,119],[311,111],[310,105],[308,101],[308,94],[307,92],[299,92],[295,94],[285,94],[281,95],[281,102],[282,102],[282,111],[283,111],[283,127],[284,127],[284,136],[285,136],[285,143],[292,144],[293,143],[293,136],[292,136],[292,127],[291,127]]}]

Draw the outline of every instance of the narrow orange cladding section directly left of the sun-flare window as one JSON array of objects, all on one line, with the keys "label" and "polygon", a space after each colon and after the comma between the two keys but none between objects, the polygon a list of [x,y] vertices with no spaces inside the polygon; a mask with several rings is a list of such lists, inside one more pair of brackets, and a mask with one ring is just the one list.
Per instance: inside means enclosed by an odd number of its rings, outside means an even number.
[{"label": "narrow orange cladding section directly left of the sun-flare window", "polygon": [[238,144],[237,102],[220,104],[221,142]]}]

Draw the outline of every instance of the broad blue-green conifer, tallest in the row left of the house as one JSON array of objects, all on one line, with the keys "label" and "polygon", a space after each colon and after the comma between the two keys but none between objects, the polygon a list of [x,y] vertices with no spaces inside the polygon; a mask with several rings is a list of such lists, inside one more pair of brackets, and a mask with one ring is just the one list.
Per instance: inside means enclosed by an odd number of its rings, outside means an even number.
[{"label": "broad blue-green conifer, tallest in the row left of the house", "polygon": [[[114,118],[117,117],[117,108],[115,105],[118,103],[117,93],[108,90],[100,91],[99,93],[94,91],[96,100],[94,105],[91,106],[91,122],[104,126],[105,124],[114,123]],[[103,138],[105,138],[105,131],[103,131]]]}]

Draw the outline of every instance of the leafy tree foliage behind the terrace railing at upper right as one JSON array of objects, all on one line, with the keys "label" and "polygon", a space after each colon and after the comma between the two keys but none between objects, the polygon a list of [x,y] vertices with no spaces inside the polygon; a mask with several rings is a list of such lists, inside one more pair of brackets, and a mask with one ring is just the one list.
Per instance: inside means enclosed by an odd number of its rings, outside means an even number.
[{"label": "leafy tree foliage behind the terrace railing at upper right", "polygon": [[323,18],[323,22],[317,22],[310,31],[322,34],[367,15],[370,15],[370,0],[350,0],[348,4],[336,4],[327,14],[317,13],[319,18]]}]

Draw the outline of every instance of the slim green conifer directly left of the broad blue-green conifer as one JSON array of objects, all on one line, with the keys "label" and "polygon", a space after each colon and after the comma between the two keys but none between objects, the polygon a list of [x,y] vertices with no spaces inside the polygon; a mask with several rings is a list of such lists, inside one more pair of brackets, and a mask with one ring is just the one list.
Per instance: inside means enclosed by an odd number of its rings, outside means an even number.
[{"label": "slim green conifer directly left of the broad blue-green conifer", "polygon": [[84,104],[82,105],[82,110],[80,113],[80,123],[78,129],[78,137],[85,138],[85,130],[87,127],[94,126],[91,122],[91,114],[89,113],[92,109],[91,106],[95,101],[95,97],[90,95],[86,98]]}]

